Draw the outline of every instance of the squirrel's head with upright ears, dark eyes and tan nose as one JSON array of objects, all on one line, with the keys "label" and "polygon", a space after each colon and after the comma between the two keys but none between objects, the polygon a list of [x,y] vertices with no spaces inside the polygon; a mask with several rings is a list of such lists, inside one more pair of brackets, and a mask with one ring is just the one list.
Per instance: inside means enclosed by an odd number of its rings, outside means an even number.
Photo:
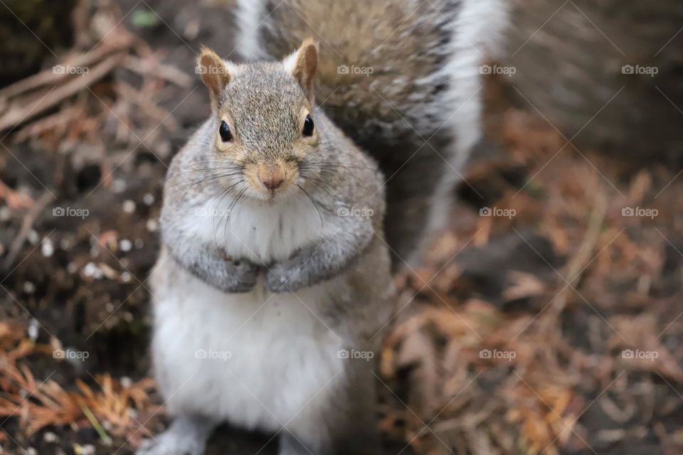
[{"label": "squirrel's head with upright ears, dark eyes and tan nose", "polygon": [[[210,162],[236,171],[246,196],[284,197],[299,184],[300,166],[319,144],[314,124],[314,41],[281,62],[235,65],[202,48],[201,74],[211,95]],[[233,181],[234,182],[234,181]]]}]

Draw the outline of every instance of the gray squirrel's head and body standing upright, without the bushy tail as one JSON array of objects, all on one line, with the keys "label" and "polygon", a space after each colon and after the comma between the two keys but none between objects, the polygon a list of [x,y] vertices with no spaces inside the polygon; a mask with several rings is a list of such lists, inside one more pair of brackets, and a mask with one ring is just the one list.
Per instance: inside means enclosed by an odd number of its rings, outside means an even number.
[{"label": "gray squirrel's head and body standing upright, without the bushy tail", "polygon": [[373,370],[393,278],[376,163],[314,104],[318,48],[236,65],[207,48],[211,117],[171,161],[151,275],[169,429],[199,455],[228,422],[280,454],[377,454]]}]

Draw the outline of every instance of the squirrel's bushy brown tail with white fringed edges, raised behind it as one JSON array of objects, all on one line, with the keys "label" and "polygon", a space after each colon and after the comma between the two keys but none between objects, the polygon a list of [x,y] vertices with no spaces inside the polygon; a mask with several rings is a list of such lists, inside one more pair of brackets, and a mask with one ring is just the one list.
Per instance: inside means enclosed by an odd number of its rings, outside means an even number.
[{"label": "squirrel's bushy brown tail with white fringed edges, raised behind it", "polygon": [[238,0],[238,51],[282,58],[320,45],[317,103],[378,160],[386,235],[410,261],[440,227],[480,135],[480,65],[504,23],[502,0]]}]

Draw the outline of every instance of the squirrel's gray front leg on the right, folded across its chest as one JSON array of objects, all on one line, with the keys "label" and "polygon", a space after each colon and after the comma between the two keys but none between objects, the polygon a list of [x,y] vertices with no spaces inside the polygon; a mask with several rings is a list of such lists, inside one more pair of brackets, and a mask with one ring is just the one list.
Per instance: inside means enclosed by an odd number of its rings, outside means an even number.
[{"label": "squirrel's gray front leg on the right, folded across its chest", "polygon": [[[337,230],[300,248],[287,260],[270,264],[265,281],[272,292],[295,292],[327,279],[349,267],[374,236],[367,218],[337,218]],[[357,218],[357,217],[356,217]]]}]

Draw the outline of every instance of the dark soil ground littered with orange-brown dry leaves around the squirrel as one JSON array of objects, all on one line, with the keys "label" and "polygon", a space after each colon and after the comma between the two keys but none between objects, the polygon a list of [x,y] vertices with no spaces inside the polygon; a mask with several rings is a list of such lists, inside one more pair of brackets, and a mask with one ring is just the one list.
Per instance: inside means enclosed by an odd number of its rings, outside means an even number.
[{"label": "dark soil ground littered with orange-brown dry leaves around the squirrel", "polygon": [[[116,69],[60,105],[83,109],[65,127],[0,134],[0,453],[132,454],[167,424],[146,279],[166,166],[208,114],[196,51],[238,45],[214,3],[118,6],[189,84]],[[488,82],[450,228],[397,278],[387,453],[683,453],[680,167],[566,146]],[[270,439],[226,428],[208,453],[272,454]]]}]

